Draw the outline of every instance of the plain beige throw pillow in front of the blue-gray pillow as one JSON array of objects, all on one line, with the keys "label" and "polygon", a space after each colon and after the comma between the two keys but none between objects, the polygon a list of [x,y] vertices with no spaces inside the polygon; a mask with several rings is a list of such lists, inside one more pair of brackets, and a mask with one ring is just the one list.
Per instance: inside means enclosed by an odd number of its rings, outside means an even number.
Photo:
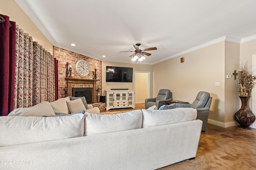
[{"label": "plain beige throw pillow in front of the blue-gray pillow", "polygon": [[69,97],[66,98],[60,98],[54,102],[50,102],[52,109],[54,110],[55,113],[70,113],[67,102],[70,101]]}]

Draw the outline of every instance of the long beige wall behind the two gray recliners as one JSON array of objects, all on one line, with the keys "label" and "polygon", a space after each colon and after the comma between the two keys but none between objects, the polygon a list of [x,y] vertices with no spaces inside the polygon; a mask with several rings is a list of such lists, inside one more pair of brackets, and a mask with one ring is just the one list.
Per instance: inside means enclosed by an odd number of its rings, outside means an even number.
[{"label": "long beige wall behind the two gray recliners", "polygon": [[[224,122],[225,43],[220,42],[153,65],[154,95],[170,89],[174,100],[192,103],[199,91],[212,96],[209,119]],[[184,57],[185,62],[180,63]],[[220,82],[220,86],[215,86]]]}]

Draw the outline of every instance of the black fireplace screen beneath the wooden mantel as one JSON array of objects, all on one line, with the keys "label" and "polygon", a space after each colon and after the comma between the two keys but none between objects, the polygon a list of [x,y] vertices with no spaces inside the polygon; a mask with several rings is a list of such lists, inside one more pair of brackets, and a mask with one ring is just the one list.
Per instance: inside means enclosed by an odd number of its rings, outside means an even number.
[{"label": "black fireplace screen beneath the wooden mantel", "polygon": [[85,97],[87,104],[92,104],[93,88],[72,88],[73,97]]}]

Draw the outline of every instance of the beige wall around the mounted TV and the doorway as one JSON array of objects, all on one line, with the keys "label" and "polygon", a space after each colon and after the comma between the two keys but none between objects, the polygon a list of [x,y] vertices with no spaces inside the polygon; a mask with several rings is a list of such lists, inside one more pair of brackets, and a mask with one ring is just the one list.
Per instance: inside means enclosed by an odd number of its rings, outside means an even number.
[{"label": "beige wall around the mounted TV and the doorway", "polygon": [[[129,63],[113,63],[113,62],[105,62],[102,61],[102,95],[105,96],[105,90],[111,90],[112,88],[128,88],[129,90],[134,89],[134,80],[132,83],[125,82],[106,82],[106,66],[119,66],[119,67],[132,67],[134,71],[148,71],[150,72],[150,77],[153,76],[153,66],[146,64],[129,64]],[[133,75],[134,79],[134,75]],[[152,78],[150,78],[150,96],[153,93],[153,82]],[[136,93],[136,92],[135,92]]]}]

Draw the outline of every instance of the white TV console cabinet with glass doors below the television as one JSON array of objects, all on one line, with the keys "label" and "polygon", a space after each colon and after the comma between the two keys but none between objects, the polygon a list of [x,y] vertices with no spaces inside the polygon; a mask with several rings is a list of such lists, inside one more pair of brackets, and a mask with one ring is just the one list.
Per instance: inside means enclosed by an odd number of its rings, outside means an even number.
[{"label": "white TV console cabinet with glass doors below the television", "polygon": [[135,90],[106,90],[106,110],[116,108],[135,108]]}]

